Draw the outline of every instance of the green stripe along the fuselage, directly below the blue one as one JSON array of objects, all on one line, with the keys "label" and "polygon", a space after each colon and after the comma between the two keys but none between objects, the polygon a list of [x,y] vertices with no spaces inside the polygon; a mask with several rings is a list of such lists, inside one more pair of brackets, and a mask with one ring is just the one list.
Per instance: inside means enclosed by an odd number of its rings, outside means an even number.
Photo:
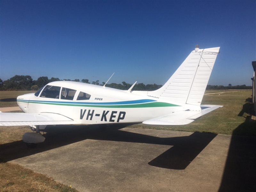
[{"label": "green stripe along the fuselage, directly below the blue one", "polygon": [[[19,101],[19,102],[28,103],[27,101]],[[44,103],[44,102],[29,102],[29,103],[73,106],[73,107],[99,107],[99,108],[146,108],[146,107],[176,107],[176,106],[179,106],[179,105],[174,105],[171,103],[164,103],[164,102],[151,102],[151,103],[141,103],[141,104],[132,104],[132,105],[81,105],[81,104],[61,104],[61,103]]]}]

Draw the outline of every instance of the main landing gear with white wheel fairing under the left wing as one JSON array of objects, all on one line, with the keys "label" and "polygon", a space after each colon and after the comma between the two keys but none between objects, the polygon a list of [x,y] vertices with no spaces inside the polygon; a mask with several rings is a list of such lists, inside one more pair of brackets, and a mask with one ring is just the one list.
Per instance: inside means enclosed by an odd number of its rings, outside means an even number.
[{"label": "main landing gear with white wheel fairing under the left wing", "polygon": [[40,129],[44,129],[45,125],[36,125],[31,126],[31,130],[35,131],[34,133],[27,132],[24,133],[22,140],[26,143],[27,147],[33,148],[36,147],[37,143],[42,143],[45,140],[45,137],[40,133]]}]

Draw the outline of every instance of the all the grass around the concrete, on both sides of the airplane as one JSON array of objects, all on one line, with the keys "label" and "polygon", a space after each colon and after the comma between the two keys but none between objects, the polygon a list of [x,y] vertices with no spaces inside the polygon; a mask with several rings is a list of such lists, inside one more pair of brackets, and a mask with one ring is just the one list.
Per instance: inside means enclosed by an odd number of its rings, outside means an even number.
[{"label": "all the grass around the concrete, on both sides of the airplane", "polygon": [[[16,97],[24,93],[28,92],[0,92],[0,107],[17,106]],[[223,107],[202,116],[191,124],[184,126],[136,124],[130,127],[255,136],[256,124],[251,121],[245,121],[248,116],[246,113],[248,108],[243,108],[243,106],[247,106],[245,100],[251,95],[251,90],[206,91],[202,104],[223,105]],[[26,126],[0,127],[0,145],[20,141],[23,133],[28,131],[30,129]],[[76,191],[68,185],[68,183],[66,185],[57,183],[51,178],[32,172],[19,165],[4,163],[3,161],[0,163],[0,191]]]}]

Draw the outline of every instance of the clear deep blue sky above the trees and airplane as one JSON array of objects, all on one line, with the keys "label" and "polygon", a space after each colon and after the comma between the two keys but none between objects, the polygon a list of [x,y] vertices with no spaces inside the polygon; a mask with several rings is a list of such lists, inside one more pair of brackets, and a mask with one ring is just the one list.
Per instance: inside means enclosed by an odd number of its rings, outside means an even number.
[{"label": "clear deep blue sky above the trees and airplane", "polygon": [[0,1],[0,78],[164,84],[220,46],[209,84],[251,85],[256,1]]}]

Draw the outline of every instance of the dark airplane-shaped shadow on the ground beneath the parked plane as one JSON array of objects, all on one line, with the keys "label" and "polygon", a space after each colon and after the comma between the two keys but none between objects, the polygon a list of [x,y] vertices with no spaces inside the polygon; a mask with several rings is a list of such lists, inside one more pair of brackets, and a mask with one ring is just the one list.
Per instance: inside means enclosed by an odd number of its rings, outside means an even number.
[{"label": "dark airplane-shaped shadow on the ground beneath the parked plane", "polygon": [[27,148],[22,140],[6,143],[0,146],[0,158],[1,161],[7,162],[86,139],[109,140],[170,145],[170,149],[157,156],[148,164],[167,169],[182,170],[185,169],[216,136],[214,133],[195,132],[189,136],[159,138],[119,130],[125,126],[127,126],[127,124],[112,126],[49,126],[45,129],[45,141],[38,144],[36,148]]}]

